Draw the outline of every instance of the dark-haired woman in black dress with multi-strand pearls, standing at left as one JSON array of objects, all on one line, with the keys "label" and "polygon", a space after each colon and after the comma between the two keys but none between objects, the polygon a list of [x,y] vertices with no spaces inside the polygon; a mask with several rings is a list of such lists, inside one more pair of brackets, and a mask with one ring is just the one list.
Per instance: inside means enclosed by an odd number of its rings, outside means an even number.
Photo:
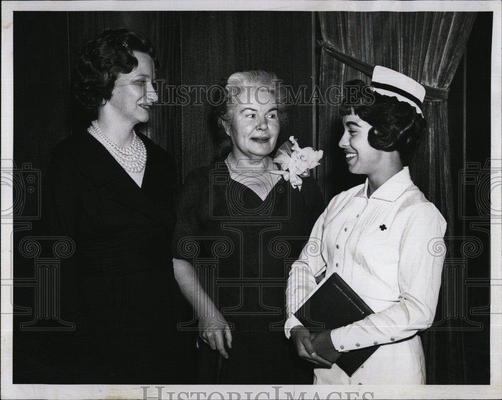
[{"label": "dark-haired woman in black dress with multi-strand pearls, standing at left", "polygon": [[184,299],[166,246],[175,168],[135,131],[157,102],[156,68],[152,43],[127,29],[105,30],[77,61],[75,95],[95,120],[53,149],[44,182],[46,232],[75,244],[60,266],[75,329],[47,334],[55,383],[181,383]]}]

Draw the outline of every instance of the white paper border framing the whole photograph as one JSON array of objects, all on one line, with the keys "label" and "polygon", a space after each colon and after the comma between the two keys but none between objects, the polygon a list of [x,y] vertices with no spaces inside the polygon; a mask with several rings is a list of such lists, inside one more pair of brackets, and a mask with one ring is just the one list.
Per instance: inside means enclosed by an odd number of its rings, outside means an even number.
[{"label": "white paper border framing the whole photograph", "polygon": [[[491,160],[492,169],[502,165],[501,141],[501,21],[502,3],[493,1],[34,1],[2,2],[2,168],[9,168],[13,159],[13,12],[14,11],[491,11],[493,12],[493,36],[491,54]],[[495,161],[497,164],[495,164]],[[492,180],[493,182],[493,180]],[[500,182],[500,179],[495,180]],[[501,187],[491,188],[491,201],[502,204]],[[12,206],[12,188],[2,184],[2,210]],[[498,209],[497,209],[498,210]],[[162,385],[162,398],[197,398],[196,392],[206,392],[208,398],[500,398],[502,397],[502,222],[492,218],[491,224],[491,285],[490,285],[490,385],[357,385],[357,386],[200,386]],[[144,398],[144,389],[139,385],[45,385],[12,384],[12,224],[2,220],[2,286],[1,286],[1,397],[24,398]],[[454,366],[452,366],[454,367]],[[149,385],[148,397],[157,398],[155,385]],[[232,393],[233,394],[228,394]],[[169,394],[171,393],[171,394]],[[216,393],[223,393],[224,397]],[[247,393],[247,394],[246,394]],[[352,394],[350,394],[352,393]],[[240,396],[240,397],[238,397]],[[329,396],[329,397],[328,397]]]}]

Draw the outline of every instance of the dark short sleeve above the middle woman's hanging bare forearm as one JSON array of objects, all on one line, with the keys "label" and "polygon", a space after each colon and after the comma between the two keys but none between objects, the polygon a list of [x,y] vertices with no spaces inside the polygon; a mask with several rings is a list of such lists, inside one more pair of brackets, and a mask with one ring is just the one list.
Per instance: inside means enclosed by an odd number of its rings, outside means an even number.
[{"label": "dark short sleeve above the middle woman's hanging bare forearm", "polygon": [[193,262],[200,251],[200,204],[206,198],[207,179],[200,169],[190,172],[176,197],[176,225],[173,233],[173,257]]}]

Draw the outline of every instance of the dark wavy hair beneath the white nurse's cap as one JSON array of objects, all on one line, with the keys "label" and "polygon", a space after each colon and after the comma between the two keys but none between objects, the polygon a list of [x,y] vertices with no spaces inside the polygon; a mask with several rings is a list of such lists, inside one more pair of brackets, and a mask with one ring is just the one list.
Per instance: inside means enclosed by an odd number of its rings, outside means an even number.
[{"label": "dark wavy hair beneath the white nurse's cap", "polygon": [[355,114],[371,125],[368,142],[377,150],[399,152],[404,165],[410,163],[422,140],[426,121],[415,107],[396,97],[373,92],[359,79],[344,84],[340,115]]}]

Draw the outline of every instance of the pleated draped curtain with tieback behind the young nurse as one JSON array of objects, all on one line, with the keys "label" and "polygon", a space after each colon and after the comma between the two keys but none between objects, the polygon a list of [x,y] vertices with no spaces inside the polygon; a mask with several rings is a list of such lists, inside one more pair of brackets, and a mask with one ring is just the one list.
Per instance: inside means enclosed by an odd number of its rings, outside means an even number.
[{"label": "pleated draped curtain with tieback behind the young nurse", "polygon": [[[448,223],[446,236],[453,235],[454,209],[446,95],[474,19],[475,13],[451,12],[319,13],[321,42],[325,48],[331,48],[331,51],[323,49],[321,53],[321,93],[350,79],[369,83],[370,78],[365,75],[370,76],[368,66],[374,65],[394,69],[427,86],[423,111],[428,128],[410,165],[410,172],[413,181],[445,217]],[[319,183],[325,187],[327,200],[361,181],[347,172],[343,153],[337,148],[342,124],[338,105],[332,103],[319,106],[318,146],[326,150]],[[464,372],[449,367],[462,365],[462,360],[454,359],[460,355],[448,350],[452,347],[452,340],[462,345],[461,334],[454,338],[449,333],[444,336],[444,333],[431,330],[422,336],[427,382],[462,383]]]}]

